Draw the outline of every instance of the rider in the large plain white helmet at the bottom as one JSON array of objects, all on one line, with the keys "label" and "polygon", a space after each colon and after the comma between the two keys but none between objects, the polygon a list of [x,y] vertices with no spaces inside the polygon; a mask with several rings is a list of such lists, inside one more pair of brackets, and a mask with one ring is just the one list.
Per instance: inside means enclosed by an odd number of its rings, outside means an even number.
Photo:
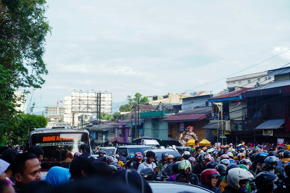
[{"label": "rider in the large plain white helmet at the bottom", "polygon": [[229,185],[224,188],[223,193],[245,193],[247,184],[254,179],[254,176],[245,169],[232,168],[228,171],[227,181]]}]

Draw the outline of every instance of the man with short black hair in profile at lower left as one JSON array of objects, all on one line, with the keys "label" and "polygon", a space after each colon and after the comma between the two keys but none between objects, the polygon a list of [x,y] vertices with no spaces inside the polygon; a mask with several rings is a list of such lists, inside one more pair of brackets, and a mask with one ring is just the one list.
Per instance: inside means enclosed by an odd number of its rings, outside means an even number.
[{"label": "man with short black hair in profile at lower left", "polygon": [[19,192],[29,182],[41,179],[41,166],[37,156],[33,153],[18,154],[11,164],[11,169],[15,179],[15,192]]}]

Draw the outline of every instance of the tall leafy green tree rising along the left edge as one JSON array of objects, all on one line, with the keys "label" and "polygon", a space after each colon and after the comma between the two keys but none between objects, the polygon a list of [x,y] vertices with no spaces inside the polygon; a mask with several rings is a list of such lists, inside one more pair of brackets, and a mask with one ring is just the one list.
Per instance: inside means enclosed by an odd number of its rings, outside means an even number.
[{"label": "tall leafy green tree rising along the left edge", "polygon": [[[0,0],[0,140],[16,121],[15,89],[37,89],[48,74],[42,57],[51,28],[45,0]],[[21,137],[21,136],[20,136]]]}]

